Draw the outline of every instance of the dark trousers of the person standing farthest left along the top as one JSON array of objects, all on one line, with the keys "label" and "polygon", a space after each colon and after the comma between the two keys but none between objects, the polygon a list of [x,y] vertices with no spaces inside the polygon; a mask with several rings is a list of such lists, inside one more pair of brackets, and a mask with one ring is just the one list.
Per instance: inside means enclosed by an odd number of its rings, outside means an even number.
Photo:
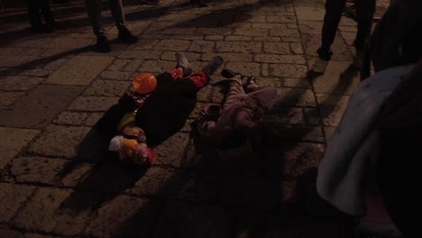
[{"label": "dark trousers of the person standing farthest left along the top", "polygon": [[45,23],[54,23],[50,8],[50,0],[28,0],[27,4],[31,26],[33,28],[41,27],[41,14],[44,17]]}]

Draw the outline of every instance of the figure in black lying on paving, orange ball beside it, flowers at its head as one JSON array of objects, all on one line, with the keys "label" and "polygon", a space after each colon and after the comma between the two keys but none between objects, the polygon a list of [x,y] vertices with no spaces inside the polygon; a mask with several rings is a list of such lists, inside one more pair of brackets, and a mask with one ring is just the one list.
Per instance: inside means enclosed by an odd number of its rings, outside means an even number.
[{"label": "figure in black lying on paving, orange ball beside it, flowers at its head", "polygon": [[151,148],[179,132],[197,104],[197,92],[224,62],[217,56],[192,74],[188,59],[179,53],[176,59],[176,68],[169,72],[136,77],[135,91],[127,92],[115,106],[113,114],[121,119],[109,150],[118,151],[121,160],[151,164],[155,159]]}]

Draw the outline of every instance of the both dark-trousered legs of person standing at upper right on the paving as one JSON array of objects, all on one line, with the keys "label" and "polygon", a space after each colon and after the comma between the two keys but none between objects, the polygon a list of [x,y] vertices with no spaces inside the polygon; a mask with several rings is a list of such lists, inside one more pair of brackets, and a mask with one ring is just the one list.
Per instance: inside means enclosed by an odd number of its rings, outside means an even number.
[{"label": "both dark-trousered legs of person standing at upper right on the paving", "polygon": [[[320,59],[330,60],[333,54],[330,50],[335,40],[338,23],[342,18],[346,0],[326,0],[326,15],[322,28],[322,44],[316,50]],[[375,13],[376,0],[356,0],[356,15],[358,32],[353,42],[356,50],[362,50],[363,46],[371,34],[372,17]]]}]

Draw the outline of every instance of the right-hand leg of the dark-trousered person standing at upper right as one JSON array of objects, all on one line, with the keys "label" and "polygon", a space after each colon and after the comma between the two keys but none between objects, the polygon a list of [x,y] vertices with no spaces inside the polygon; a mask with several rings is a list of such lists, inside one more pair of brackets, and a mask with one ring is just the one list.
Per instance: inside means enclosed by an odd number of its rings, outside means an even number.
[{"label": "right-hand leg of the dark-trousered person standing at upper right", "polygon": [[357,51],[362,51],[371,34],[372,17],[375,13],[376,0],[356,0],[357,34],[353,44]]}]

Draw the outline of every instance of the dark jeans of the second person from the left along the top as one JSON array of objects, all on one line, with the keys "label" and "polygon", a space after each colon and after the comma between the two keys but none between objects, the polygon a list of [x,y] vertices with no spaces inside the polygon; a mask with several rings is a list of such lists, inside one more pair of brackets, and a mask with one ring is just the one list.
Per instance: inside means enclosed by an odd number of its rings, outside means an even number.
[{"label": "dark jeans of the second person from the left along the top", "polygon": [[[107,2],[115,18],[115,26],[120,31],[126,27],[122,0],[108,0]],[[105,31],[101,27],[101,0],[85,0],[85,4],[87,5],[87,14],[94,33],[97,37],[105,35]]]}]

